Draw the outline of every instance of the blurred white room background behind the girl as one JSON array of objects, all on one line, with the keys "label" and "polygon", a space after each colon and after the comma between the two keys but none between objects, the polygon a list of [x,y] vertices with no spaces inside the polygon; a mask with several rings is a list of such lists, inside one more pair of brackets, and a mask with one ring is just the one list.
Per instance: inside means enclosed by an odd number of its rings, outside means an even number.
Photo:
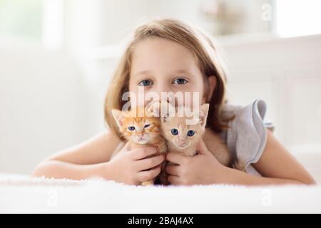
[{"label": "blurred white room background behind the girl", "polygon": [[230,102],[265,100],[277,138],[320,169],[320,10],[317,0],[0,0],[0,172],[30,173],[105,130],[103,98],[126,38],[161,18],[208,33]]}]

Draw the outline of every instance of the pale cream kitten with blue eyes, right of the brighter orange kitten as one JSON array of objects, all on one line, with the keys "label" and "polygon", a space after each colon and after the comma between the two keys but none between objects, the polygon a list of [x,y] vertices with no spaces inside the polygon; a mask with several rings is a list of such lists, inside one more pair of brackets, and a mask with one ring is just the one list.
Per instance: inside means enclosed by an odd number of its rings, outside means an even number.
[{"label": "pale cream kitten with blue eyes, right of the brighter orange kitten", "polygon": [[[180,107],[183,108],[183,115],[178,116],[179,108],[168,105],[168,117],[161,118],[163,137],[167,142],[168,152],[194,156],[197,153],[198,142],[203,138],[208,150],[218,162],[225,166],[232,165],[233,156],[228,152],[227,145],[223,143],[220,136],[205,128],[209,104],[201,105],[198,113],[194,112],[193,116],[186,115],[189,110],[185,107]],[[197,122],[188,124],[188,121],[193,118],[196,118]]]}]

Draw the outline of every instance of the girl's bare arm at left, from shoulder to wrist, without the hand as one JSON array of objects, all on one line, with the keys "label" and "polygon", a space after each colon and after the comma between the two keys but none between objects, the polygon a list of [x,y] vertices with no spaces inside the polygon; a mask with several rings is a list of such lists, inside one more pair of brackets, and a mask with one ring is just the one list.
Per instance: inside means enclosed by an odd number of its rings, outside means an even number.
[{"label": "girl's bare arm at left, from shoulder to wrist, without the hand", "polygon": [[52,155],[34,170],[35,177],[45,176],[73,180],[102,176],[108,179],[108,160],[119,140],[111,132],[101,133],[75,147]]}]

